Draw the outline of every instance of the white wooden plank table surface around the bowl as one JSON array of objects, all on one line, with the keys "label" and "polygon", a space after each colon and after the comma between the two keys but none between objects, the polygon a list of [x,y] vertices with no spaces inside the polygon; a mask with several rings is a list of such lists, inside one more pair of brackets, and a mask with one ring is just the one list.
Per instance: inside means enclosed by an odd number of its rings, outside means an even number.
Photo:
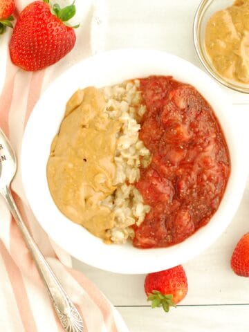
[{"label": "white wooden plank table surface around the bowl", "polygon": [[[232,1],[231,1],[232,3]],[[106,49],[144,47],[174,53],[200,66],[192,42],[192,22],[199,0],[107,0]],[[202,68],[202,67],[201,67]],[[228,91],[241,126],[249,123],[249,95]],[[249,133],[245,131],[245,142]],[[245,149],[245,154],[249,154]],[[131,332],[249,331],[249,278],[230,269],[230,256],[249,231],[249,181],[236,216],[213,245],[184,268],[187,297],[167,315],[151,309],[143,291],[144,275],[116,275],[74,260],[118,308]]]}]

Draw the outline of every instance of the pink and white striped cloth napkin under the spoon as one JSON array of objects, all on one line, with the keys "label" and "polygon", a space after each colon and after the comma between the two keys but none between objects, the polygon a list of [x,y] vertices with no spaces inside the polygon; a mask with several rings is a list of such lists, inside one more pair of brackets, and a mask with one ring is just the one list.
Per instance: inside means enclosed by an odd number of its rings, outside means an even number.
[{"label": "pink and white striped cloth napkin under the spoon", "polygon": [[[32,0],[16,0],[15,16],[30,2]],[[71,3],[71,0],[58,2],[63,5]],[[18,159],[26,122],[44,89],[60,73],[80,59],[100,51],[104,45],[104,0],[77,0],[75,4],[76,20],[81,23],[76,30],[75,48],[44,71],[28,73],[11,63],[8,56],[10,31],[3,36],[4,42],[0,41],[0,81],[4,80],[3,89],[0,82],[0,127],[10,139]],[[52,243],[35,220],[26,201],[19,169],[12,190],[33,238],[82,313],[86,326],[84,332],[127,332],[116,308],[89,279],[71,268],[71,257]],[[30,252],[2,199],[0,214],[0,331],[64,331],[54,315]]]}]

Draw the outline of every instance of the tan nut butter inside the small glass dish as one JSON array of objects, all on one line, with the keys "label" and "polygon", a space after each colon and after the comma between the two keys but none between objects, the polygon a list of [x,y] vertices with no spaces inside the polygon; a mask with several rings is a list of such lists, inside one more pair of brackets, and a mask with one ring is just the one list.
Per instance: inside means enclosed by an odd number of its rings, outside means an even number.
[{"label": "tan nut butter inside the small glass dish", "polygon": [[237,0],[212,15],[205,48],[221,76],[249,83],[249,0]]}]

